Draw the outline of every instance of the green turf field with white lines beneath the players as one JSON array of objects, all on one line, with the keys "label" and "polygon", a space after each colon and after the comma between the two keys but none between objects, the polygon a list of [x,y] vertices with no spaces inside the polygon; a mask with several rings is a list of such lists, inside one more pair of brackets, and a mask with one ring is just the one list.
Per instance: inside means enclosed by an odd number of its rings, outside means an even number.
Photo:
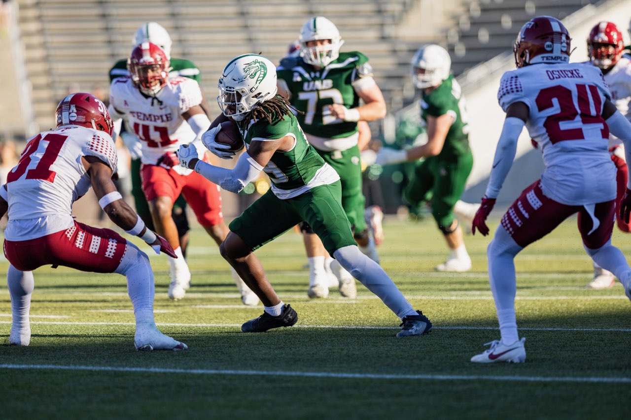
[{"label": "green turf field with white lines beneath the players", "polygon": [[[496,221],[497,224],[497,221]],[[591,262],[575,219],[517,257],[522,365],[474,365],[499,338],[487,279],[489,238],[467,236],[473,271],[433,272],[446,257],[432,221],[388,219],[382,265],[432,334],[399,339],[399,320],[363,286],[307,298],[302,240],[257,251],[295,327],[244,334],[246,308],[227,265],[195,230],[192,287],[167,298],[167,261],[151,257],[158,327],[182,352],[134,350],[124,277],[60,267],[35,272],[28,347],[7,346],[11,307],[0,288],[0,401],[11,418],[584,418],[631,415],[631,303],[620,284],[590,291]],[[616,245],[631,254],[619,231]],[[144,245],[146,251],[150,251]],[[0,263],[6,272],[7,262]]]}]

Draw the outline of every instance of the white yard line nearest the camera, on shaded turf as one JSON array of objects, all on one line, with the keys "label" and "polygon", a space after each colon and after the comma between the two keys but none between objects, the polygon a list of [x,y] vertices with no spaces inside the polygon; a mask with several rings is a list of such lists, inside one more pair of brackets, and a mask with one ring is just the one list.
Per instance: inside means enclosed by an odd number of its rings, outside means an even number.
[{"label": "white yard line nearest the camera, on shaded turf", "polygon": [[140,373],[182,373],[185,375],[234,375],[234,376],[292,376],[298,378],[336,379],[392,379],[392,380],[442,380],[442,381],[506,381],[506,382],[578,382],[578,383],[631,383],[631,378],[599,376],[500,376],[500,375],[394,375],[389,373],[341,373],[300,372],[265,370],[218,370],[218,369],[172,369],[172,368],[129,368],[119,366],[64,366],[64,365],[0,365],[0,369],[36,369],[68,371],[110,371]]}]

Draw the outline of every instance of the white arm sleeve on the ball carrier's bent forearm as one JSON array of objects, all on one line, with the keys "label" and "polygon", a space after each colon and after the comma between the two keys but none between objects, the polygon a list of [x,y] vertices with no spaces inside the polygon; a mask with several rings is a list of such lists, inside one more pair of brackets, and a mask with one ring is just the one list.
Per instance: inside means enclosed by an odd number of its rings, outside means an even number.
[{"label": "white arm sleeve on the ball carrier's bent forearm", "polygon": [[232,170],[210,165],[202,160],[199,160],[195,165],[195,172],[199,175],[235,194],[244,189],[245,185],[254,181],[262,170],[263,167],[247,152],[239,156],[239,160]]}]

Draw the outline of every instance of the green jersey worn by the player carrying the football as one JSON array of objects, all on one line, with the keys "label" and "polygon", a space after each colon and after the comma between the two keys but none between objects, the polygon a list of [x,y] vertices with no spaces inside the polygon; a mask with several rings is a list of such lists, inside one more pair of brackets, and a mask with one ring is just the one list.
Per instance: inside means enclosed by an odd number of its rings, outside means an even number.
[{"label": "green jersey worn by the player carrying the football", "polygon": [[[293,114],[283,118],[274,118],[270,124],[267,119],[239,122],[239,128],[247,147],[253,140],[271,141],[285,136],[296,139],[295,146],[286,152],[276,151],[263,169],[272,182],[274,195],[290,198],[306,192],[317,185],[331,184],[339,179],[337,173],[307,143],[304,132]],[[323,169],[324,170],[321,170]]]}]

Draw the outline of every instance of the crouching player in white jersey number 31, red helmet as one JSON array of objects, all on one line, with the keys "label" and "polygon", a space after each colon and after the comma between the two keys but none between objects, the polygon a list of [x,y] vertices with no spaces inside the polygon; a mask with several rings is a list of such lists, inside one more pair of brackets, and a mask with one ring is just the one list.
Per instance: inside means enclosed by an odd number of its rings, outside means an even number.
[{"label": "crouching player in white jersey number 31, red helmet", "polygon": [[142,238],[156,253],[175,255],[164,238],[144,226],[112,182],[117,155],[107,108],[89,93],[74,93],[59,103],[56,117],[57,129],[28,141],[20,162],[0,187],[0,216],[9,213],[4,231],[4,254],[11,263],[7,272],[13,313],[9,344],[28,346],[30,342],[33,270],[64,265],[127,277],[136,318],[136,349],[186,349],[186,344],[156,328],[153,271],[147,255],[115,231],[84,225],[72,216],[73,202],[91,186],[117,226]]}]

